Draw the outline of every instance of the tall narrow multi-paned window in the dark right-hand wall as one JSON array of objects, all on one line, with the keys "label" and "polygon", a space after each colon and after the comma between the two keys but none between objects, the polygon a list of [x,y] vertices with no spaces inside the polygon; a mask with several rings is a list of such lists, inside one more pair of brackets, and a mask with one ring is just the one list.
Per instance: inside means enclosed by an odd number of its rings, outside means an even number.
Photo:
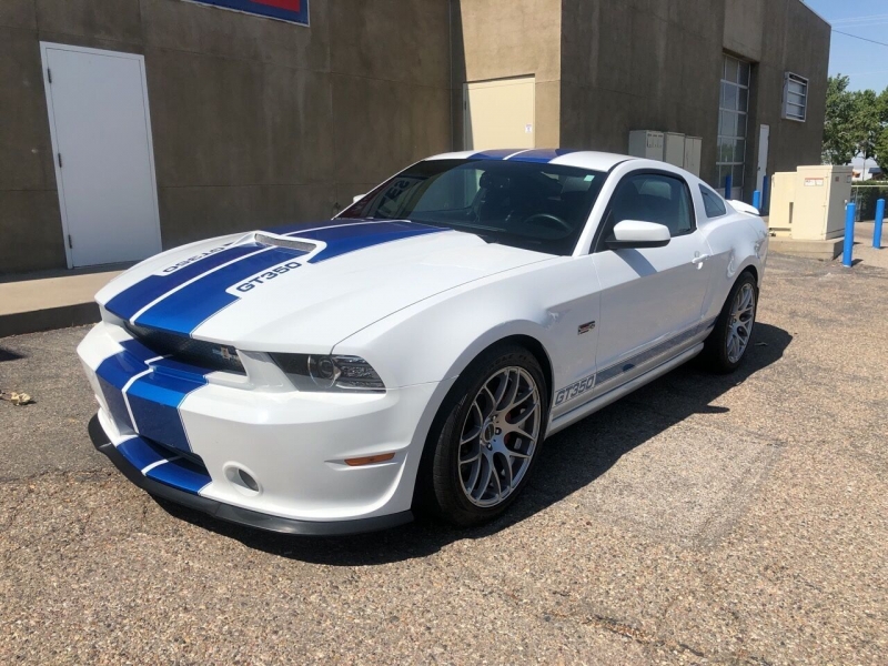
[{"label": "tall narrow multi-paned window in the dark right-hand wall", "polygon": [[718,186],[728,174],[734,188],[743,191],[746,161],[746,114],[749,110],[748,62],[724,57],[722,98],[718,103]]}]

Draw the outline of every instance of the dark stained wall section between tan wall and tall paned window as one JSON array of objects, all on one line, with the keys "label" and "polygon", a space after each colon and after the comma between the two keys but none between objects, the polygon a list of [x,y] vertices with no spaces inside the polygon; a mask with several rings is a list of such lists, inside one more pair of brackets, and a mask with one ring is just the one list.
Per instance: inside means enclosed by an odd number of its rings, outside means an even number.
[{"label": "dark stained wall section between tan wall and tall paned window", "polygon": [[564,0],[562,144],[625,153],[632,130],[703,137],[712,176],[724,14],[724,0]]}]

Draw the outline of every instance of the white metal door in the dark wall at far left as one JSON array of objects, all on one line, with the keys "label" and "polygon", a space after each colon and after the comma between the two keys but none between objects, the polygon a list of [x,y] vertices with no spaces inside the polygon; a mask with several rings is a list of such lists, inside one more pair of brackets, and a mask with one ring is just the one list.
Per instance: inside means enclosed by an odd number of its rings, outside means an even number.
[{"label": "white metal door in the dark wall at far left", "polygon": [[144,58],[41,42],[69,268],[161,249]]}]

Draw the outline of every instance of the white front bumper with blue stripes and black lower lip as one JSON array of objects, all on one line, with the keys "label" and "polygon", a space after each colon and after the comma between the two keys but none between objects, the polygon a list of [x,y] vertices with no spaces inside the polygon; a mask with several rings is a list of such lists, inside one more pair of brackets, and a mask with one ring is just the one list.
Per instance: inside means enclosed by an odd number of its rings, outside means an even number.
[{"label": "white front bumper with blue stripes and black lower lip", "polygon": [[[430,405],[442,384],[300,393],[270,385],[270,375],[238,379],[152,357],[107,322],[78,353],[100,407],[97,447],[152,494],[299,534],[366,532],[411,518]],[[345,464],[382,454],[394,457]],[[241,471],[256,487],[244,485]]]}]

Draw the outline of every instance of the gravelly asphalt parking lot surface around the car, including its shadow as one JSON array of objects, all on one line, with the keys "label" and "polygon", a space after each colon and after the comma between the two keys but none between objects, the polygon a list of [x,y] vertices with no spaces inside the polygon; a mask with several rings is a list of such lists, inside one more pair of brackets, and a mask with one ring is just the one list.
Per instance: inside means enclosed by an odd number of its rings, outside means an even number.
[{"label": "gravelly asphalt parking lot surface around the car, including its shadow", "polygon": [[0,339],[0,663],[886,664],[886,294],[773,255],[737,374],[555,435],[484,528],[350,538],[152,500],[87,436],[87,329]]}]

